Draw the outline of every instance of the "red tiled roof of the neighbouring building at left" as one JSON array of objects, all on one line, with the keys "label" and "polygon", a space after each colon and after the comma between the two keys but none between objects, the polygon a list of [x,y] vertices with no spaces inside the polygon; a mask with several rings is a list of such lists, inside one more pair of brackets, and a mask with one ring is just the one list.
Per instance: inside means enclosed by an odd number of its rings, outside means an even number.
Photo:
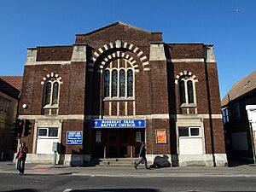
[{"label": "red tiled roof of the neighbouring building at left", "polygon": [[22,76],[0,76],[0,91],[18,98],[22,86]]}]

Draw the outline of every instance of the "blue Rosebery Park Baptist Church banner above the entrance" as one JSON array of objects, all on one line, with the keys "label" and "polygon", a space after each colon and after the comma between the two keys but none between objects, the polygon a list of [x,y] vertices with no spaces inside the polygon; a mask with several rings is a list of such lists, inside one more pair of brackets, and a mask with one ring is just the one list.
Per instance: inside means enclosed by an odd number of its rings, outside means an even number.
[{"label": "blue Rosebery Park Baptist Church banner above the entrance", "polygon": [[145,119],[92,119],[92,128],[145,128]]}]

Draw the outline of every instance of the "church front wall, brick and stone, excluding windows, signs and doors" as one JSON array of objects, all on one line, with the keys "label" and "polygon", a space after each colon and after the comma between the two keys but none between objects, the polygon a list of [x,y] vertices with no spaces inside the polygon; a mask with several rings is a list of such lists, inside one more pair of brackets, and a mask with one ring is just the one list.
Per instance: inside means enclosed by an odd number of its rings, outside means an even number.
[{"label": "church front wall, brick and stone, excluding windows, signs and doors", "polygon": [[[28,105],[26,110],[20,108],[20,118],[36,124],[32,125],[31,135],[25,138],[29,153],[37,153],[37,134],[33,130],[38,129],[39,124],[44,125],[44,121],[60,123],[60,154],[94,155],[96,148],[101,146],[94,141],[96,132],[90,127],[91,119],[145,119],[146,127],[140,131],[145,135],[143,141],[147,143],[148,155],[154,160],[156,155],[167,154],[175,159],[169,160],[175,165],[178,160],[181,162],[178,127],[192,119],[196,121],[194,126],[201,127],[202,154],[225,154],[212,45],[165,44],[161,36],[161,32],[146,32],[114,23],[76,35],[73,46],[29,49],[20,101]],[[133,68],[132,99],[104,99],[103,71],[117,65]],[[178,82],[184,76],[195,83],[195,105],[192,107],[182,107],[179,103]],[[46,79],[60,77],[58,106],[44,108]],[[166,143],[156,143],[157,129],[166,130]],[[83,131],[83,144],[68,145],[67,131]],[[111,131],[108,129],[107,134]],[[127,153],[130,145],[136,150],[136,143],[131,143],[134,133],[127,131],[131,134],[127,138]]]}]

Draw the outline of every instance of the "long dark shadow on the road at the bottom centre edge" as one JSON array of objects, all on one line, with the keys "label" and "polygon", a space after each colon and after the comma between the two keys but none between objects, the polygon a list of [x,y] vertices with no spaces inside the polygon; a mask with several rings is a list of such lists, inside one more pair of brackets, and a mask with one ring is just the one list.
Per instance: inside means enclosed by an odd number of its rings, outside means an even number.
[{"label": "long dark shadow on the road at the bottom centre edge", "polygon": [[158,189],[80,189],[71,192],[160,192]]}]

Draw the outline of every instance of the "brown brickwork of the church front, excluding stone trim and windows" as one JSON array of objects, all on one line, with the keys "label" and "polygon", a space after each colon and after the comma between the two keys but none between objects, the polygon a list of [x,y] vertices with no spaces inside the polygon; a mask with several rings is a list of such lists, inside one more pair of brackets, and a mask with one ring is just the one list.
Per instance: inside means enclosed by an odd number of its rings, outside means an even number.
[{"label": "brown brickwork of the church front, excluding stone trim and windows", "polygon": [[[41,81],[47,74],[54,72],[61,77],[59,114],[109,115],[109,102],[102,102],[102,73],[98,71],[104,56],[120,51],[129,53],[138,65],[135,73],[135,108],[136,115],[145,114],[180,114],[179,96],[176,76],[184,70],[194,73],[196,82],[197,113],[220,114],[220,98],[218,90],[218,73],[216,63],[204,61],[175,62],[170,59],[204,59],[203,44],[165,44],[166,61],[149,61],[151,41],[162,41],[161,32],[145,32],[125,25],[113,25],[95,32],[77,35],[75,44],[88,44],[87,62],[71,62],[71,64],[46,64],[26,66],[22,96],[20,103],[28,108],[20,108],[20,114],[40,115],[42,113],[43,85]],[[143,50],[149,61],[150,71],[144,71],[143,61],[131,49],[114,48],[106,50],[87,70],[91,57],[104,44],[116,40],[134,44]],[[70,61],[73,46],[38,47],[37,61]],[[106,64],[108,65],[108,64]],[[106,67],[106,66],[105,66]],[[209,84],[209,92],[207,92]],[[112,115],[117,114],[118,103],[111,102]],[[191,111],[191,113],[195,113]],[[125,101],[119,101],[119,114],[125,115]],[[133,114],[133,101],[127,102],[127,114]],[[147,120],[146,137],[148,153],[177,154],[177,136],[175,119]],[[224,153],[224,137],[221,119],[204,119],[207,154],[212,153],[212,141],[215,153]],[[166,129],[167,143],[155,143],[155,129]],[[92,131],[90,120],[63,120],[62,147],[66,154],[91,152]],[[211,131],[211,129],[213,129]],[[67,131],[84,131],[84,145],[66,145]],[[212,139],[213,134],[213,139]],[[28,137],[29,140],[31,137]],[[30,141],[29,144],[32,145]]]}]

